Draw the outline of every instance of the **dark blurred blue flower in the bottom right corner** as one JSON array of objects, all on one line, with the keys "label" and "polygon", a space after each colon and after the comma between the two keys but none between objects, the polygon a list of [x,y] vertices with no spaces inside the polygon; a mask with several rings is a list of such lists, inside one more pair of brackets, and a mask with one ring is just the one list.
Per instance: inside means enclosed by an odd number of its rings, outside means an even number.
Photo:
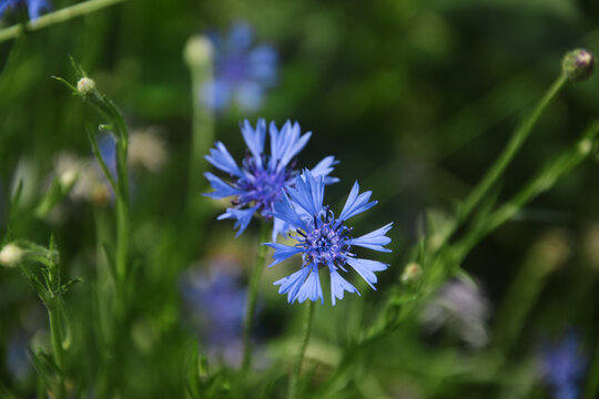
[{"label": "dark blurred blue flower in the bottom right corner", "polygon": [[568,332],[559,342],[541,347],[542,378],[556,399],[580,397],[578,385],[583,377],[586,358],[582,356],[579,337]]}]

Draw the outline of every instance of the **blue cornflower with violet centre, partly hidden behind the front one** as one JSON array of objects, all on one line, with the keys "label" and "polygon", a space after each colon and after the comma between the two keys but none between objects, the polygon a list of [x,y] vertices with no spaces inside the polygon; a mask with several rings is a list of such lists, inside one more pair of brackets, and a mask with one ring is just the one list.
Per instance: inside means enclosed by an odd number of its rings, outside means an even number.
[{"label": "blue cornflower with violet centre, partly hidden behind the front one", "polygon": [[[212,198],[234,197],[232,201],[234,206],[227,208],[219,219],[236,219],[237,236],[245,231],[255,213],[268,221],[273,219],[273,205],[281,198],[285,187],[293,185],[297,175],[293,160],[312,135],[311,132],[302,135],[297,122],[292,124],[287,121],[281,130],[271,122],[268,129],[271,154],[267,155],[264,153],[266,139],[264,119],[258,119],[255,129],[245,120],[241,130],[248,149],[241,167],[221,142],[216,142],[215,149],[210,150],[210,155],[205,156],[215,167],[230,174],[231,184],[210,172],[204,174],[214,188],[214,192],[205,195]],[[333,156],[326,156],[312,168],[312,174],[322,176],[324,184],[335,183],[338,178],[329,177],[328,174],[336,163]],[[287,229],[282,219],[274,218],[273,241]]]}]

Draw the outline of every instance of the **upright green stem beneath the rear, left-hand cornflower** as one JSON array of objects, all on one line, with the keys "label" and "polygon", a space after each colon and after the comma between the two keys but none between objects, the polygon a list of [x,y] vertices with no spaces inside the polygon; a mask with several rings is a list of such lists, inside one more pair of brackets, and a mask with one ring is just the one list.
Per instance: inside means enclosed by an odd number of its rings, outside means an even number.
[{"label": "upright green stem beneath the rear, left-hand cornflower", "polygon": [[271,228],[268,227],[268,222],[261,222],[260,231],[260,246],[258,254],[256,258],[256,264],[252,270],[252,276],[250,277],[250,289],[247,290],[247,300],[245,303],[245,319],[243,324],[243,364],[242,364],[242,375],[245,375],[250,367],[252,366],[252,329],[254,326],[254,316],[256,313],[256,299],[260,288],[260,279],[262,277],[262,270],[264,269],[264,264],[266,262],[266,252],[268,247],[262,245],[263,243],[268,242],[268,235]]}]

